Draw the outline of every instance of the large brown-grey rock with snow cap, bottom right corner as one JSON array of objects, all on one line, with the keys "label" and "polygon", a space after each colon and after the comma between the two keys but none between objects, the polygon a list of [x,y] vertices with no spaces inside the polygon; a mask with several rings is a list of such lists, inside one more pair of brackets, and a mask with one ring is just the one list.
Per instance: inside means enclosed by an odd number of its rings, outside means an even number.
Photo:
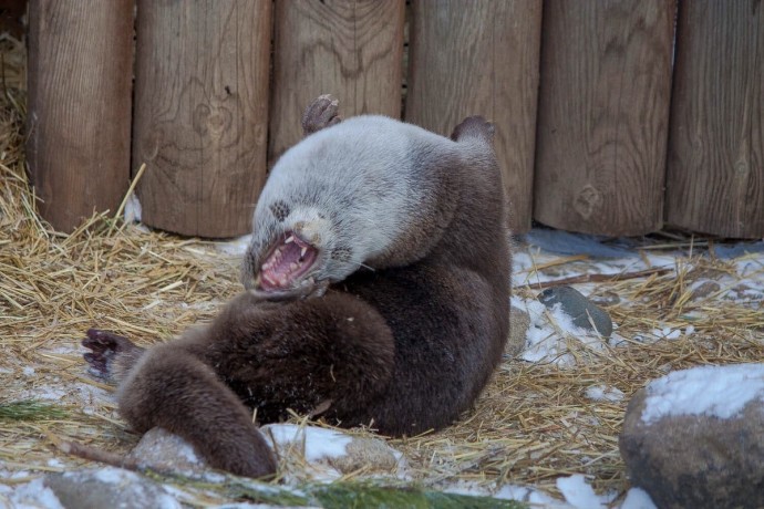
[{"label": "large brown-grey rock with snow cap, bottom right corner", "polygon": [[658,507],[764,507],[764,364],[653,381],[629,403],[619,446]]}]

